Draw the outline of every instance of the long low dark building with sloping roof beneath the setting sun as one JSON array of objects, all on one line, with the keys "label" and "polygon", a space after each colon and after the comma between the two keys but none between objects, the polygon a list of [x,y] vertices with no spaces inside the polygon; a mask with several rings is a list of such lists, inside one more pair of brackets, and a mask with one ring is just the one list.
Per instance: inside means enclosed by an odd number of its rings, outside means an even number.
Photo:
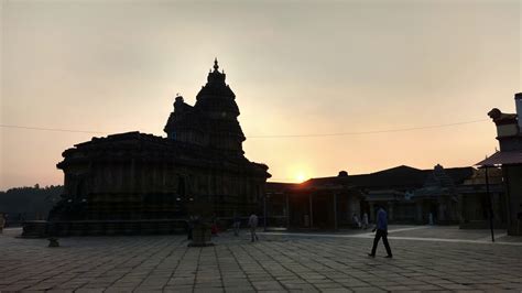
[{"label": "long low dark building with sloping roof beneath the setting sun", "polygon": [[[474,167],[418,170],[396,166],[370,174],[312,178],[301,184],[268,183],[269,224],[290,228],[352,227],[354,214],[376,217],[376,206],[388,210],[391,223],[458,224],[458,187],[471,177]],[[275,207],[273,207],[275,206]]]}]

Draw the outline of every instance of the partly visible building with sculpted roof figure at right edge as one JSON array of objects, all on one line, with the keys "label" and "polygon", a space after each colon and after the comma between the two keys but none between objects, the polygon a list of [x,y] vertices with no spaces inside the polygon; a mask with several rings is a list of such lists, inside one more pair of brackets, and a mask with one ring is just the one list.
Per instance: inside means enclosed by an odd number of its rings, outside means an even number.
[{"label": "partly visible building with sculpted roof figure at right edge", "polygon": [[516,113],[494,108],[489,117],[497,127],[500,151],[477,163],[486,171],[502,169],[509,235],[522,235],[522,93],[514,95]]}]

